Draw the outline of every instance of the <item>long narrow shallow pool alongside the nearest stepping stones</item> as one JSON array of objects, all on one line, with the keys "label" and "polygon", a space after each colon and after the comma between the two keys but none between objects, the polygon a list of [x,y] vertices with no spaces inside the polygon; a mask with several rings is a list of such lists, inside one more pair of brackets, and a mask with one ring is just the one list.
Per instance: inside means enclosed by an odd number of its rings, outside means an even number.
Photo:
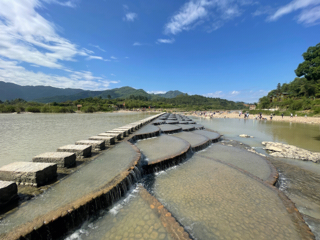
[{"label": "long narrow shallow pool alongside the nearest stepping stones", "polygon": [[31,221],[36,216],[55,210],[102,187],[120,172],[132,166],[131,163],[136,156],[137,152],[128,142],[120,142],[115,147],[109,148],[92,162],[60,180],[59,183],[0,220],[0,233]]}]

